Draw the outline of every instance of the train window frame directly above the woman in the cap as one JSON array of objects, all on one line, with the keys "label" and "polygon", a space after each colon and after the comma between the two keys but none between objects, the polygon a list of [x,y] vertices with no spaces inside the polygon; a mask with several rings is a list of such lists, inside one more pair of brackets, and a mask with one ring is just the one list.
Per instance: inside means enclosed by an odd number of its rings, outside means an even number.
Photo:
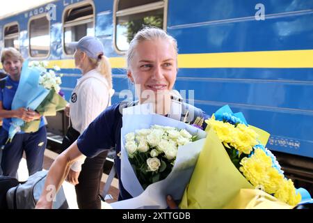
[{"label": "train window frame directly above the woman in the cap", "polygon": [[[91,18],[92,22],[93,22],[93,36],[95,36],[95,3],[93,1],[83,1],[83,2],[78,2],[78,3],[73,3],[69,6],[66,6],[64,9],[63,9],[63,15],[62,15],[62,52],[63,52],[63,56],[65,58],[73,58],[74,54],[67,54],[66,51],[65,51],[65,28],[66,27],[70,27],[70,26],[75,26],[75,25],[78,25],[78,24],[86,24],[88,22],[86,21],[83,21],[83,19],[81,20],[77,20],[75,22],[68,22],[66,24],[65,22],[65,17],[66,17],[66,14],[68,12],[68,10],[71,10],[73,8],[79,8],[81,6],[86,6],[86,5],[90,5],[93,7],[93,17]],[[80,17],[80,18],[83,18],[83,17]],[[86,18],[85,18],[86,20]],[[71,25],[72,24],[72,25]]]}]

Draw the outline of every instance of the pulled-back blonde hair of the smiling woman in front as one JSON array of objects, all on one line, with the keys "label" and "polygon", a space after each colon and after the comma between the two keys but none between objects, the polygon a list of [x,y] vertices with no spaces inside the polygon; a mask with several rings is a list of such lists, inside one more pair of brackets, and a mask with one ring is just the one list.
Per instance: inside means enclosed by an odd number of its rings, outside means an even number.
[{"label": "pulled-back blonde hair of the smiling woman in front", "polygon": [[146,26],[141,31],[138,31],[138,33],[136,33],[134,38],[131,40],[131,43],[129,43],[129,49],[127,51],[128,69],[130,67],[131,61],[136,51],[136,46],[145,40],[156,40],[156,39],[168,40],[170,43],[172,43],[172,46],[174,47],[176,52],[176,56],[178,55],[177,41],[175,40],[175,38],[168,35],[168,33],[166,33],[166,31],[163,31],[163,29]]}]

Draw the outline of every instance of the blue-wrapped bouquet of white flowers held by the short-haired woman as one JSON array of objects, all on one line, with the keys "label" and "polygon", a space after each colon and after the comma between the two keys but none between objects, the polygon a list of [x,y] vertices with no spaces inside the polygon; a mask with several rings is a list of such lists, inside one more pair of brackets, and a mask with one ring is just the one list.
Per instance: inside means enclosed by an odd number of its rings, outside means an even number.
[{"label": "blue-wrapped bouquet of white flowers held by the short-haired woman", "polygon": [[[12,109],[32,109],[42,116],[55,116],[57,111],[65,108],[67,102],[59,95],[61,75],[54,70],[47,69],[47,61],[24,61],[19,86],[13,98]],[[17,132],[36,132],[40,120],[25,122],[21,118],[12,118],[9,129],[8,142]]]}]

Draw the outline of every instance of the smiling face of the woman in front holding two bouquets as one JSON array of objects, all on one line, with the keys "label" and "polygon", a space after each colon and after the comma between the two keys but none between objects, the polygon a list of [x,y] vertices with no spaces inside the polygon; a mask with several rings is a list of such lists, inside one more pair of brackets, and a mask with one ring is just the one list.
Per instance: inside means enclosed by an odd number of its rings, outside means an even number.
[{"label": "smiling face of the woman in front holding two bouquets", "polygon": [[141,102],[150,93],[156,100],[158,95],[168,95],[177,75],[177,54],[172,43],[163,39],[138,43],[127,75],[136,84]]}]

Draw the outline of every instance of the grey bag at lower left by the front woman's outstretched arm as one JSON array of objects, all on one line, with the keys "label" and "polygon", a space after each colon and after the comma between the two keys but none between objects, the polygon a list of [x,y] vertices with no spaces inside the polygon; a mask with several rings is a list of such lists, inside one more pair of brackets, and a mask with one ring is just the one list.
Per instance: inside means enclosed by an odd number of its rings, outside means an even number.
[{"label": "grey bag at lower left by the front woman's outstretched arm", "polygon": [[[34,209],[42,191],[44,190],[45,180],[48,171],[38,171],[29,176],[29,179],[16,187],[11,187],[6,193],[6,201],[9,209]],[[48,188],[53,190],[53,188]],[[56,193],[52,209],[68,209],[69,206],[61,187]]]}]

